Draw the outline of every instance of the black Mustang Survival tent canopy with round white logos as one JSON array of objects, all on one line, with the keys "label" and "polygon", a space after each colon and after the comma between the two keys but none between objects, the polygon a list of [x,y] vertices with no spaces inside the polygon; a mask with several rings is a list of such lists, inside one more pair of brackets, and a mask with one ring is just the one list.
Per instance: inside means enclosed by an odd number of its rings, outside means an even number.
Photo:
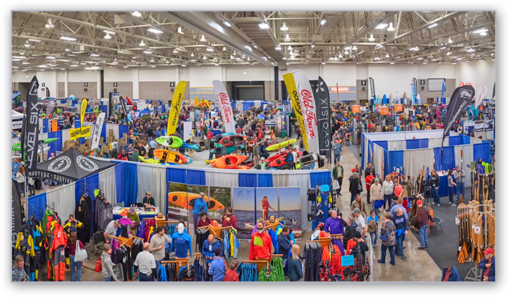
[{"label": "black Mustang Survival tent canopy with round white logos", "polygon": [[115,166],[115,163],[92,159],[78,152],[75,147],[71,147],[66,152],[59,154],[59,157],[37,164],[37,170],[29,171],[28,176],[72,183],[111,166]]}]

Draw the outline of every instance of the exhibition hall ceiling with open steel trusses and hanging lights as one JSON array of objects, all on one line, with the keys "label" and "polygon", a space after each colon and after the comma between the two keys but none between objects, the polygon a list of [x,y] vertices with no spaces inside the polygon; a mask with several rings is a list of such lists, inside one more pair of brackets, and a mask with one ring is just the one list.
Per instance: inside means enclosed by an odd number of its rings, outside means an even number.
[{"label": "exhibition hall ceiling with open steel trusses and hanging lights", "polygon": [[495,11],[12,11],[14,71],[495,60]]}]

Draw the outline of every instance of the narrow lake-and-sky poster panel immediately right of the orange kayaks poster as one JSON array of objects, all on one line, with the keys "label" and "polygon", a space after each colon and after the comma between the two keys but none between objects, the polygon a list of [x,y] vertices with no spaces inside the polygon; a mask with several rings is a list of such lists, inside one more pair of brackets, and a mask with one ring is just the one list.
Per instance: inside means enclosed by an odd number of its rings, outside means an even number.
[{"label": "narrow lake-and-sky poster panel immediately right of the orange kayaks poster", "polygon": [[233,213],[237,217],[237,238],[250,240],[255,223],[255,188],[232,188]]}]

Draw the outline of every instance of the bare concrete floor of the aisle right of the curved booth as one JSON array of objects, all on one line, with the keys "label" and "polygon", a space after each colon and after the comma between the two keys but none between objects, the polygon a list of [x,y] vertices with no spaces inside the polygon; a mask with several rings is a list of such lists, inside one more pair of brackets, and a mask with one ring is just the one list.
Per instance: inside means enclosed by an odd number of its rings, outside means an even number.
[{"label": "bare concrete floor of the aisle right of the curved booth", "polygon": [[[352,147],[355,149],[355,147]],[[360,164],[358,158],[348,148],[344,147],[344,160],[341,165],[344,166],[344,181],[341,186],[341,198],[337,199],[336,207],[339,208],[340,212],[344,214],[344,219],[347,219],[351,215],[351,193],[349,193],[349,181],[348,177],[351,176],[351,169]],[[330,167],[331,169],[333,166]],[[365,207],[371,209],[372,205],[366,204],[367,201],[367,190],[363,187],[363,193],[361,193],[361,200],[365,202]],[[380,222],[382,222],[382,213],[380,213]],[[370,241],[370,234],[366,240]],[[378,241],[381,246],[381,241]],[[380,259],[380,247],[374,248],[374,260],[372,265],[373,281],[439,281],[441,279],[442,270],[439,269],[437,264],[432,260],[432,257],[425,250],[418,250],[420,243],[418,238],[409,232],[404,241],[404,254],[407,256],[406,260],[402,260],[400,257],[396,257],[396,266],[389,264],[389,253],[387,253],[386,264],[377,263],[377,259]]]}]

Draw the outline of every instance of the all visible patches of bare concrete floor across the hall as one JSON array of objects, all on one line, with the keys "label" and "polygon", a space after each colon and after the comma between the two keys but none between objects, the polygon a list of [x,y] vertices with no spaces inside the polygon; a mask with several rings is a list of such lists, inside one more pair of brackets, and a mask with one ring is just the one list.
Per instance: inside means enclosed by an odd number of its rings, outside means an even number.
[{"label": "all visible patches of bare concrete floor across the hall", "polygon": [[[190,167],[198,168],[209,168],[210,165],[205,164],[204,160],[209,157],[208,151],[195,152],[193,157],[193,163]],[[351,174],[351,169],[356,164],[359,164],[358,158],[353,154],[348,147],[344,147],[344,160],[341,162],[344,166],[344,181],[342,183],[340,198],[337,198],[336,207],[339,207],[340,212],[344,214],[344,219],[351,214],[350,198],[351,194],[348,192],[348,176]],[[332,167],[331,167],[332,168]],[[57,186],[58,187],[58,186]],[[49,190],[55,187],[46,187]],[[42,190],[37,190],[37,193]],[[366,202],[366,189],[362,193],[362,200]],[[370,207],[370,205],[367,205]],[[381,215],[381,214],[380,214]],[[301,253],[303,253],[305,241],[310,238],[311,231],[303,233],[303,240],[298,241]],[[193,237],[193,246],[195,246],[195,237]],[[381,246],[379,242],[379,246]],[[442,275],[441,269],[432,260],[432,257],[423,250],[418,250],[419,242],[418,238],[412,232],[409,232],[406,236],[404,246],[407,247],[404,253],[407,256],[406,260],[402,260],[396,257],[396,266],[389,265],[389,255],[387,255],[387,264],[377,263],[377,259],[380,258],[380,248],[373,248],[372,259],[372,281],[439,281]],[[241,241],[241,248],[239,248],[238,260],[248,260],[249,254],[249,242]],[[97,255],[90,254],[90,260],[87,260],[83,264],[82,269],[82,281],[103,281],[101,274],[94,272],[95,262],[99,259],[99,253]],[[69,272],[66,272],[66,281],[70,279]]]}]

